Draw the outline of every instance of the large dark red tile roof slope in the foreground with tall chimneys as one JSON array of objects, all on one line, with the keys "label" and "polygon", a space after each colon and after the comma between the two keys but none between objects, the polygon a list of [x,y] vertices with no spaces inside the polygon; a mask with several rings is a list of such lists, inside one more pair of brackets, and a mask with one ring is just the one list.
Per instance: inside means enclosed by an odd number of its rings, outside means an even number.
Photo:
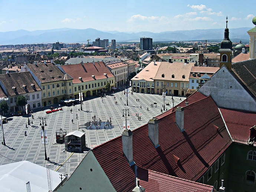
[{"label": "large dark red tile roof slope in the foreground with tall chimneys", "polygon": [[[184,132],[175,124],[175,112],[164,114],[158,119],[160,147],[155,148],[148,138],[147,124],[132,131],[134,162],[139,168],[197,181],[232,143],[219,109],[210,96],[185,106]],[[134,166],[129,166],[122,152],[121,136],[92,152],[116,191],[134,188]],[[173,155],[180,158],[178,165]],[[145,180],[140,172],[138,178]]]}]

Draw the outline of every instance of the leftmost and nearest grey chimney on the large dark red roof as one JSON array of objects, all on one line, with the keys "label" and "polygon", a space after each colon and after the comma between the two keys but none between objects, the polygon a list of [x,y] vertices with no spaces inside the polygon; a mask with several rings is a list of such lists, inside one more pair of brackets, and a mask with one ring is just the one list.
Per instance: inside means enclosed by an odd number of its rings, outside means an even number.
[{"label": "leftmost and nearest grey chimney on the large dark red roof", "polygon": [[133,153],[132,153],[132,131],[130,129],[125,129],[122,133],[122,146],[123,153],[126,157],[130,166],[134,165]]}]

